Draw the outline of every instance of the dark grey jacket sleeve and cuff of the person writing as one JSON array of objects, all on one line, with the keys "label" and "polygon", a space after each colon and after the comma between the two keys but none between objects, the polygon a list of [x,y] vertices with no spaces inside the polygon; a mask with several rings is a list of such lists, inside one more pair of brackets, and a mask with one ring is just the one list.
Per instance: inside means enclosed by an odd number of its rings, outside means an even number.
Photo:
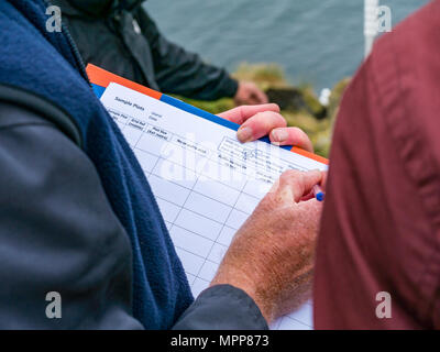
[{"label": "dark grey jacket sleeve and cuff of the person writing", "polygon": [[[142,329],[130,240],[77,134],[56,107],[0,86],[0,329]],[[61,319],[46,316],[47,292],[62,296]],[[222,285],[174,328],[267,326],[244,292]]]}]

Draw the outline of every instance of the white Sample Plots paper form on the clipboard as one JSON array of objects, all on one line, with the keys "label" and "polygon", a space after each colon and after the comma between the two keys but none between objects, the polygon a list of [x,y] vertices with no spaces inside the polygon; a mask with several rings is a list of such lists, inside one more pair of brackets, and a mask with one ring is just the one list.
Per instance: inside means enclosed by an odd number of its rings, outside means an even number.
[{"label": "white Sample Plots paper form on the clipboard", "polygon": [[[197,297],[213,278],[235,231],[279,175],[327,165],[117,84],[102,103],[133,148]],[[272,329],[312,329],[311,301]]]}]

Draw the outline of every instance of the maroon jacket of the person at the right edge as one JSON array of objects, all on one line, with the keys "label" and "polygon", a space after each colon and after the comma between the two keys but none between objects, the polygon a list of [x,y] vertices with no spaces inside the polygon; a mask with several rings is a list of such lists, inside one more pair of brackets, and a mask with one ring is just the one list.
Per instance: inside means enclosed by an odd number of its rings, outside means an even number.
[{"label": "maroon jacket of the person at the right edge", "polygon": [[[338,117],[317,329],[440,328],[440,0],[384,35]],[[376,317],[380,292],[392,318]]]}]

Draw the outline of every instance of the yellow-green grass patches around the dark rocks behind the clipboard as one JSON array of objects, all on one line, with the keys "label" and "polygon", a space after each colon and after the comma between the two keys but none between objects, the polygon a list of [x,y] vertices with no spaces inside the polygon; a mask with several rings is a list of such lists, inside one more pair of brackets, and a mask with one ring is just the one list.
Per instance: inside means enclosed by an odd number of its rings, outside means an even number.
[{"label": "yellow-green grass patches around the dark rocks behind the clipboard", "polygon": [[[242,64],[233,76],[238,79],[252,80],[262,89],[292,87],[292,85],[286,81],[283,70],[277,65],[272,64]],[[345,78],[334,86],[330,98],[330,105],[328,107],[328,118],[321,121],[318,121],[306,111],[282,111],[282,114],[285,117],[289,125],[302,129],[310,136],[316,153],[319,155],[328,157],[334,119],[338,112],[340,99],[348,82],[349,79]],[[316,103],[317,99],[310,86],[301,85],[296,88],[301,90],[305,99],[310,106]],[[184,100],[212,113],[219,113],[234,107],[232,99],[197,101],[184,98]]]}]

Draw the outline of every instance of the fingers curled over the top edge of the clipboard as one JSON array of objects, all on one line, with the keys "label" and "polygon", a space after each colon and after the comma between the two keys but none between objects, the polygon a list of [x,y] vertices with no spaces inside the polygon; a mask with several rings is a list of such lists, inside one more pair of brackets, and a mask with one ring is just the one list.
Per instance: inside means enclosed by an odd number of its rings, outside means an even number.
[{"label": "fingers curled over the top edge of the clipboard", "polygon": [[279,107],[275,103],[238,107],[220,113],[219,117],[241,124],[237,136],[242,143],[268,134],[272,143],[295,145],[314,152],[307,134],[298,128],[287,128],[286,119],[279,114]]}]

